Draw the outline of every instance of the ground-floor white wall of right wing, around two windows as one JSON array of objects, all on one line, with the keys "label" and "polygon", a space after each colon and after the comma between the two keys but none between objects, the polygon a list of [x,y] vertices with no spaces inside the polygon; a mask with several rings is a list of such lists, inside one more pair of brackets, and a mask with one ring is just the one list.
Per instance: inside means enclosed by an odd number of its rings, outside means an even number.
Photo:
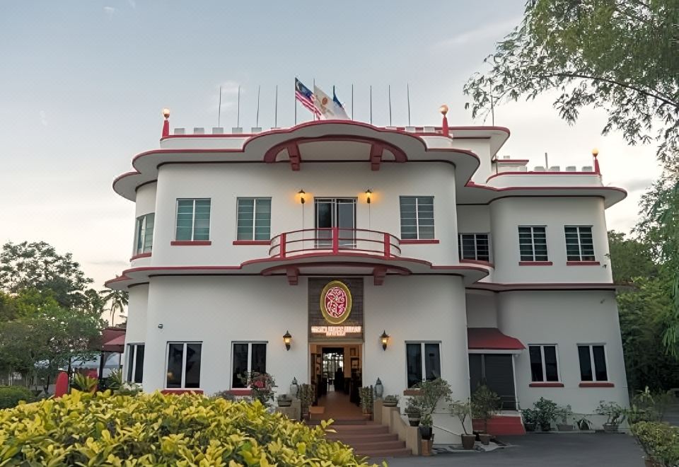
[{"label": "ground-floor white wall of right wing, around two windows", "polygon": [[[528,350],[516,357],[516,394],[522,408],[545,397],[591,414],[600,400],[628,404],[622,340],[612,291],[503,292],[498,297],[499,329],[523,342],[557,345],[563,388],[531,388]],[[603,344],[613,388],[581,388],[578,344]],[[591,417],[600,423],[598,417]]]}]

